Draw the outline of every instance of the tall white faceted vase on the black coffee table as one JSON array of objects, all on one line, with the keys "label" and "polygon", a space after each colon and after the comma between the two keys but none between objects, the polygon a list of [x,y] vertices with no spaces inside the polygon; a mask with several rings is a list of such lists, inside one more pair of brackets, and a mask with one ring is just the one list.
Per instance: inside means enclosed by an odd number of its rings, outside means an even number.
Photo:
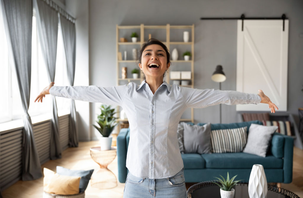
[{"label": "tall white faceted vase on the black coffee table", "polygon": [[254,164],[248,181],[248,195],[250,198],[265,198],[267,195],[267,180],[264,168]]}]

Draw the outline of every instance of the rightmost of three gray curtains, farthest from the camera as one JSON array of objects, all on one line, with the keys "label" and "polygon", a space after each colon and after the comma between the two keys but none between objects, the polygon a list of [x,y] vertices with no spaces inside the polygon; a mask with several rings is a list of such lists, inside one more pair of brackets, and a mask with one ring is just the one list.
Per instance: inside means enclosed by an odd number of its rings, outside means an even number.
[{"label": "rightmost of three gray curtains, farthest from the camera", "polygon": [[[75,24],[67,20],[60,14],[60,21],[63,34],[63,42],[66,55],[67,75],[71,86],[74,86],[75,78],[75,59],[76,59],[76,30]],[[70,131],[69,141],[70,147],[77,147],[79,143],[78,132],[76,129],[76,107],[75,100],[71,103]]]}]

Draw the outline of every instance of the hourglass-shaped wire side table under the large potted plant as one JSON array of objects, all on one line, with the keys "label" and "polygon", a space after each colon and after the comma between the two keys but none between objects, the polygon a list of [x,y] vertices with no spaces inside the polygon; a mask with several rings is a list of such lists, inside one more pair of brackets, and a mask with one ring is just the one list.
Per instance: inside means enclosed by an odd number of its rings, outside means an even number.
[{"label": "hourglass-shaped wire side table under the large potted plant", "polygon": [[107,165],[116,157],[117,150],[101,151],[100,147],[90,148],[92,159],[100,165],[100,170],[94,173],[91,179],[91,186],[99,189],[114,188],[117,186],[117,178],[112,171],[108,170]]}]

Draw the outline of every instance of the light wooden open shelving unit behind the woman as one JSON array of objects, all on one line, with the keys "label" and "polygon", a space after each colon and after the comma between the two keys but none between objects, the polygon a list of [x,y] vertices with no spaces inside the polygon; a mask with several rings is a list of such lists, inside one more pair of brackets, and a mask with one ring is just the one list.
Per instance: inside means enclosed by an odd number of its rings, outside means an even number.
[{"label": "light wooden open shelving unit behind the woman", "polygon": [[[122,29],[132,29],[132,30],[138,30],[140,29],[140,37],[138,38],[138,42],[120,42],[119,38],[119,30]],[[138,47],[140,48],[141,45],[146,42],[144,40],[144,31],[147,29],[164,29],[166,30],[166,41],[161,41],[162,43],[164,43],[166,45],[166,47],[168,48],[168,51],[170,51],[170,46],[171,45],[191,45],[191,60],[171,60],[171,63],[191,63],[191,79],[190,80],[191,84],[190,85],[179,85],[179,86],[183,86],[183,87],[190,87],[190,88],[194,88],[194,43],[195,43],[195,25],[170,25],[170,24],[166,24],[166,25],[144,25],[144,24],[140,24],[140,25],[133,25],[133,26],[118,26],[116,25],[116,65],[117,65],[117,85],[122,85],[120,84],[120,81],[128,81],[129,82],[135,82],[137,84],[141,84],[143,79],[143,72],[140,71],[140,78],[139,79],[134,79],[134,78],[126,78],[126,79],[122,79],[121,76],[119,76],[120,70],[121,68],[119,67],[119,63],[135,63],[136,60],[118,60],[118,52],[119,52],[119,47],[123,46],[123,45],[138,45]],[[182,42],[182,41],[177,41],[177,42],[171,42],[170,41],[170,30],[172,29],[190,29],[191,30],[191,41],[190,42]],[[180,40],[183,40],[183,37],[180,38]],[[188,67],[188,66],[184,66],[184,67]],[[171,67],[170,67],[171,68]],[[166,74],[166,82],[170,82],[170,80],[181,80],[181,79],[170,79],[170,75],[169,75],[170,69],[168,69],[168,73]],[[120,117],[119,115],[119,106],[117,106],[117,112],[118,112],[118,117]],[[194,122],[194,109],[191,108],[191,118],[188,119],[180,119],[180,121],[183,122]],[[118,122],[128,122],[127,119],[118,119]],[[117,133],[119,133],[120,131],[120,125],[117,125]]]}]

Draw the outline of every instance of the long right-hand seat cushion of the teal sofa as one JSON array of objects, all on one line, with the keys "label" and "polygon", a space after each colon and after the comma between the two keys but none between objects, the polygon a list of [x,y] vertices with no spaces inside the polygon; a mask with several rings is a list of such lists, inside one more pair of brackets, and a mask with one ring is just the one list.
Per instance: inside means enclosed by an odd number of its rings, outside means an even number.
[{"label": "long right-hand seat cushion of the teal sofa", "polygon": [[201,154],[206,168],[252,168],[254,164],[266,168],[283,168],[283,160],[272,155],[260,157],[248,153],[212,153]]}]

